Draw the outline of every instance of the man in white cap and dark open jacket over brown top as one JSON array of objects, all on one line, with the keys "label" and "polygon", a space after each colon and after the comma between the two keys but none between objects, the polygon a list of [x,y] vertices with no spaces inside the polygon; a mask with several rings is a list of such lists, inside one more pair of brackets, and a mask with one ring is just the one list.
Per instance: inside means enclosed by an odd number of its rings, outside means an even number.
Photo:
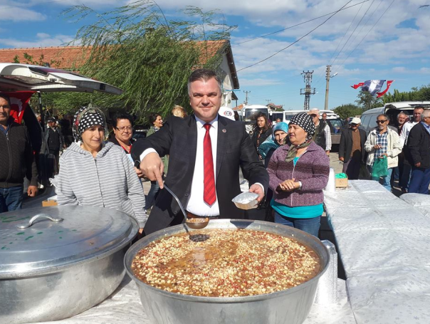
[{"label": "man in white cap and dark open jacket over brown top", "polygon": [[364,163],[366,132],[360,129],[362,120],[352,118],[350,128],[340,135],[339,160],[343,162],[342,172],[348,179],[356,180],[360,174],[360,166]]}]

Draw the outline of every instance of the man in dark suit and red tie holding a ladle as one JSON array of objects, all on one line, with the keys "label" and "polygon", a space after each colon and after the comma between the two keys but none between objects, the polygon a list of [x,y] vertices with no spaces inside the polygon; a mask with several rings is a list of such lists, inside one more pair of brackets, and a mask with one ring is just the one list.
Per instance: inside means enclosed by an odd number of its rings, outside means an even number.
[{"label": "man in dark suit and red tie holding a ladle", "polygon": [[[167,187],[187,209],[187,216],[246,218],[231,199],[241,193],[239,167],[251,184],[250,192],[261,201],[268,186],[268,173],[242,122],[218,115],[221,80],[211,70],[195,70],[189,77],[188,92],[194,115],[170,117],[154,135],[138,140],[132,147],[140,169],[163,188],[160,156],[169,155]],[[145,234],[182,223],[184,215],[177,202],[162,190],[145,225]]]}]

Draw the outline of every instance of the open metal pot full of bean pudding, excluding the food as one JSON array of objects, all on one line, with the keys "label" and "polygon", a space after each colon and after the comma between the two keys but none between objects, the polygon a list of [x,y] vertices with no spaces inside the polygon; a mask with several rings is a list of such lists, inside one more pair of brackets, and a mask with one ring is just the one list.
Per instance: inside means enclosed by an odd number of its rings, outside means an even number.
[{"label": "open metal pot full of bean pudding, excluding the food", "polygon": [[131,263],[140,249],[152,241],[184,232],[182,225],[157,231],[137,241],[125,254],[127,273],[137,283],[140,301],[150,318],[157,324],[278,324],[303,323],[308,316],[318,286],[318,279],[327,269],[329,254],[325,246],[309,234],[292,227],[266,221],[216,219],[211,229],[253,229],[291,237],[313,249],[320,258],[321,271],[310,281],[286,291],[248,297],[199,297],[169,293],[143,283],[131,270]]}]

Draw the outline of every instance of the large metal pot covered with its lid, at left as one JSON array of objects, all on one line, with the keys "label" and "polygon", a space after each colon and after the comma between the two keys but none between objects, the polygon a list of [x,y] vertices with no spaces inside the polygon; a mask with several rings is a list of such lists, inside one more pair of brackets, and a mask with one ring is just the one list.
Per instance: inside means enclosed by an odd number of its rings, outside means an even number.
[{"label": "large metal pot covered with its lid, at left", "polygon": [[0,214],[0,323],[61,320],[103,301],[125,275],[125,247],[138,229],[132,217],[105,208]]}]

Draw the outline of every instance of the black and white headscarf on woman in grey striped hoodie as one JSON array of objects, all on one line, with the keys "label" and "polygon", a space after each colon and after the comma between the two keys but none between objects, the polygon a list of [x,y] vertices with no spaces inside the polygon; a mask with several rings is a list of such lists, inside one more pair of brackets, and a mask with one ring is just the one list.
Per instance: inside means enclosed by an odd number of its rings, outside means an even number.
[{"label": "black and white headscarf on woman in grey striped hoodie", "polygon": [[108,130],[103,111],[92,107],[80,108],[73,117],[73,137],[75,140],[82,140],[82,133],[93,125],[101,125],[105,127],[105,130]]}]

